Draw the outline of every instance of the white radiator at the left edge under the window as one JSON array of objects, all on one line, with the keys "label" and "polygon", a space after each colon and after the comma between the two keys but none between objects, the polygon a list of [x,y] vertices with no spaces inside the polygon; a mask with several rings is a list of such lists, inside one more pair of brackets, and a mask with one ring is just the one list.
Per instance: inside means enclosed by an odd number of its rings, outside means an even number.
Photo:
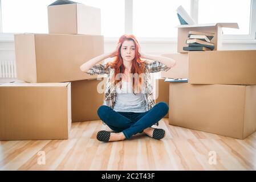
[{"label": "white radiator at the left edge under the window", "polygon": [[15,60],[0,60],[0,78],[15,78]]}]

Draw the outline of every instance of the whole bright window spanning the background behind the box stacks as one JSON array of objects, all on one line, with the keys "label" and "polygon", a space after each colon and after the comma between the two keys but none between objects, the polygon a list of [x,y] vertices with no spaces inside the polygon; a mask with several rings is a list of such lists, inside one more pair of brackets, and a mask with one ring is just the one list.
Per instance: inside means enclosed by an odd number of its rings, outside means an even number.
[{"label": "whole bright window spanning the background behind the box stacks", "polygon": [[[1,0],[2,32],[48,33],[47,6],[54,1]],[[239,29],[222,29],[225,34],[223,38],[226,40],[255,38],[256,0],[76,0],[76,2],[101,9],[101,34],[111,42],[125,33],[156,42],[165,41],[165,38],[170,38],[168,41],[176,40],[175,27],[180,24],[176,9],[180,5],[198,23],[238,23]],[[0,34],[0,39],[5,36],[7,37],[7,34]]]}]

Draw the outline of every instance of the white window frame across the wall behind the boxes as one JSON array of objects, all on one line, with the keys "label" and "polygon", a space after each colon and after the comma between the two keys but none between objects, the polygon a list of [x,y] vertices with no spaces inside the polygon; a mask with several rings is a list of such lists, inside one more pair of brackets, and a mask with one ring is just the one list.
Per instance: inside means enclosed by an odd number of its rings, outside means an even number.
[{"label": "white window frame across the wall behind the boxes", "polygon": [[[133,0],[124,0],[125,4],[125,34],[133,32]],[[198,2],[202,0],[190,0],[190,15],[198,22]],[[253,11],[254,10],[254,11]],[[256,34],[256,0],[251,0],[251,15],[249,35],[223,35],[224,43],[255,43]],[[104,37],[105,42],[116,42],[117,37]],[[138,37],[144,43],[176,43],[177,38],[145,38]],[[14,33],[2,33],[2,15],[1,15],[1,0],[0,0],[0,42],[14,41]]]}]

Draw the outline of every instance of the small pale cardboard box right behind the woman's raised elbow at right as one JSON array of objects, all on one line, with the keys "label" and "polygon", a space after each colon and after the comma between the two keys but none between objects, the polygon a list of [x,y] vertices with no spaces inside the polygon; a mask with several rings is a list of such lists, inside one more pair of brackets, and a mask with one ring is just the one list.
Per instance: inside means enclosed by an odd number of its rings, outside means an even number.
[{"label": "small pale cardboard box right behind the woman's raised elbow at right", "polygon": [[188,78],[188,53],[170,53],[161,56],[176,60],[176,65],[169,71],[161,71],[162,78]]}]

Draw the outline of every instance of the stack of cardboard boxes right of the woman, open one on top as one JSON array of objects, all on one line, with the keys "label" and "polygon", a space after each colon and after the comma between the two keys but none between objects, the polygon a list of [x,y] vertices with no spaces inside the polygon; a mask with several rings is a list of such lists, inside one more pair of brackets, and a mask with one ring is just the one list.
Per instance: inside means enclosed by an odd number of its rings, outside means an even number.
[{"label": "stack of cardboard boxes right of the woman, open one on top", "polygon": [[[244,139],[256,131],[256,50],[220,51],[221,27],[236,23],[178,26],[177,65],[169,83],[169,124]],[[215,51],[182,50],[189,31],[214,32]]]}]

